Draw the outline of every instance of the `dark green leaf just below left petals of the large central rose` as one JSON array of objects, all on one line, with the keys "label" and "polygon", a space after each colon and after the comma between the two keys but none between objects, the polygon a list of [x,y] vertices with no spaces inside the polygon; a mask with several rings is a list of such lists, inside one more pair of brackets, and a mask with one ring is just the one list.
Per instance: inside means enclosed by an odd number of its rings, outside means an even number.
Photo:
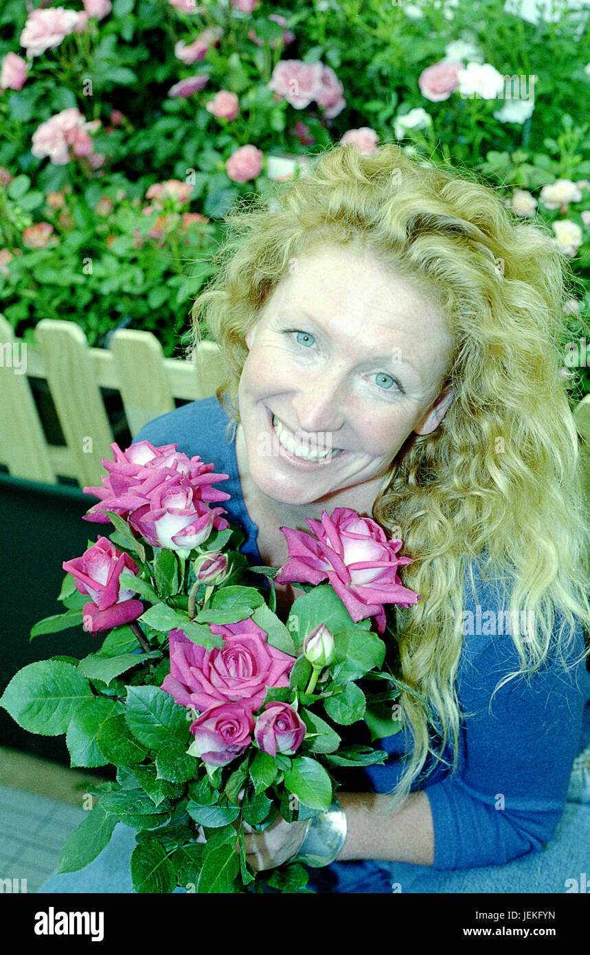
[{"label": "dark green leaf just below left petals of the large central rose", "polygon": [[188,735],[186,712],[159,687],[130,687],[125,719],[139,742],[153,750],[184,743]]}]

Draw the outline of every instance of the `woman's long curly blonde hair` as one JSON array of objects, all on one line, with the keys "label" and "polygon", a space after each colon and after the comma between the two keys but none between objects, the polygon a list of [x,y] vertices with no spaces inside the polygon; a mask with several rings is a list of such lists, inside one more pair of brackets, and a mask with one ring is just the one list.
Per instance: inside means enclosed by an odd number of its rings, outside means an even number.
[{"label": "woman's long curly blonde hair", "polygon": [[[396,275],[419,281],[453,334],[443,385],[453,388],[453,402],[432,434],[412,432],[404,442],[372,509],[374,520],[402,537],[399,556],[413,559],[404,584],[423,599],[392,611],[399,675],[436,711],[441,741],[435,752],[432,713],[402,691],[411,746],[392,808],[429,753],[436,762],[450,743],[453,771],[457,765],[466,714],[455,677],[474,561],[483,582],[512,584],[520,668],[495,691],[516,676],[528,678],[553,650],[567,667],[575,618],[590,630],[590,523],[572,399],[559,371],[563,306],[577,280],[542,220],[520,220],[473,170],[413,159],[394,143],[372,156],[353,144],[329,148],[311,158],[306,175],[276,184],[266,200],[237,202],[225,223],[215,278],[192,318],[194,344],[204,320],[227,364],[217,396],[229,426],[240,420],[245,334],[290,262],[313,249],[371,250]],[[496,257],[504,260],[503,276]],[[535,621],[534,634],[520,632],[523,612]]]}]

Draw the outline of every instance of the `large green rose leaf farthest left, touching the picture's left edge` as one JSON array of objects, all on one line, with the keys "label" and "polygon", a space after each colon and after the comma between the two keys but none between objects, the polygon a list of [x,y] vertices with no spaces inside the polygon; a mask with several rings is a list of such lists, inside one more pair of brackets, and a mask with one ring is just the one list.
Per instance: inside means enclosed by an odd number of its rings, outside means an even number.
[{"label": "large green rose leaf farthest left, touching the picture's left edge", "polygon": [[66,732],[74,712],[94,699],[91,686],[68,663],[40,660],[19,669],[0,697],[23,730],[43,736]]}]

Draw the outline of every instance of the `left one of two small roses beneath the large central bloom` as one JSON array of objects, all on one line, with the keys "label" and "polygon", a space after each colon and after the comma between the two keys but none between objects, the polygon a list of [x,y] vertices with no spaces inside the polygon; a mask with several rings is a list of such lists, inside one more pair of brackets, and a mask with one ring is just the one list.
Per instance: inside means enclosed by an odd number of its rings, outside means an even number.
[{"label": "left one of two small roses beneath the large central bloom", "polygon": [[253,729],[251,711],[239,703],[221,703],[191,723],[195,742],[188,752],[209,766],[227,766],[250,745]]}]

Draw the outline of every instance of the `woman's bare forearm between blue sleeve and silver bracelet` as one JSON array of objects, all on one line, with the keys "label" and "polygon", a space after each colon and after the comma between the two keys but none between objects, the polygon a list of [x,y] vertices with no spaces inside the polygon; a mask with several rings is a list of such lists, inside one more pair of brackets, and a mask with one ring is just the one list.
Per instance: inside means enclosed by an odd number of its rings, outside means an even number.
[{"label": "woman's bare forearm between blue sleeve and silver bracelet", "polygon": [[411,793],[386,815],[390,796],[381,793],[338,793],[347,814],[347,841],[337,861],[390,859],[432,865],[434,829],[431,803],[423,791]]}]

